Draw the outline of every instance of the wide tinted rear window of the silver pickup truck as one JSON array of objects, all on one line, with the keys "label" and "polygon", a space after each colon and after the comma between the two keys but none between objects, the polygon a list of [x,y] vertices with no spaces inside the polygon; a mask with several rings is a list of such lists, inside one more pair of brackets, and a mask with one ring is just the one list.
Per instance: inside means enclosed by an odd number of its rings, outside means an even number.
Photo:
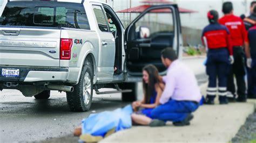
[{"label": "wide tinted rear window of the silver pickup truck", "polygon": [[90,30],[83,4],[66,2],[8,2],[0,25]]}]

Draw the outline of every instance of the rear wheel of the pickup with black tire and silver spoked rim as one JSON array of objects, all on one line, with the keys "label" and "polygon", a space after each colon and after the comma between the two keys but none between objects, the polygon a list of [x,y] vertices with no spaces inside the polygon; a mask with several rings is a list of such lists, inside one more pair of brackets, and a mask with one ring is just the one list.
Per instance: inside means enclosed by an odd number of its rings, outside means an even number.
[{"label": "rear wheel of the pickup with black tire and silver spoked rim", "polygon": [[79,82],[73,88],[73,92],[66,93],[70,110],[88,111],[91,107],[93,94],[93,63],[90,59],[85,59]]}]

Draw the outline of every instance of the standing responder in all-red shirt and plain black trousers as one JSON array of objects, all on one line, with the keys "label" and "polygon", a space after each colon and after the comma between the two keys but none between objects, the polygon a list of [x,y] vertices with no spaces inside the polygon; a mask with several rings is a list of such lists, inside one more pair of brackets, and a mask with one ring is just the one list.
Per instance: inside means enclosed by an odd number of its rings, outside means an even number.
[{"label": "standing responder in all-red shirt and plain black trousers", "polygon": [[237,102],[246,102],[246,84],[245,84],[245,59],[244,48],[246,56],[250,59],[250,51],[248,47],[247,31],[244,22],[240,17],[233,15],[233,4],[231,2],[225,2],[223,4],[224,16],[219,19],[219,23],[225,25],[230,31],[231,44],[234,52],[234,64],[230,67],[230,73],[228,74],[227,91],[230,91],[233,95],[231,99],[235,99],[235,85],[234,75],[237,80]]}]

